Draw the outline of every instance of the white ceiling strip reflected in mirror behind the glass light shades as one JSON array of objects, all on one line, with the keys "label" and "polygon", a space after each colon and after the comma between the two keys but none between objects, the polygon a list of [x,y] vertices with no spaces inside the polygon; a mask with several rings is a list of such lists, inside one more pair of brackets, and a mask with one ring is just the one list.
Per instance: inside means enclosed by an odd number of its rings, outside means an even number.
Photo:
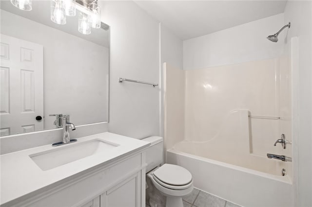
[{"label": "white ceiling strip reflected in mirror behind the glass light shades", "polygon": [[0,0],[0,8],[7,12],[28,18],[65,33],[78,36],[98,45],[109,47],[109,30],[105,31],[103,29],[92,28],[90,35],[83,35],[78,32],[78,12],[76,12],[75,17],[66,17],[66,24],[59,25],[52,22],[50,19],[51,2],[49,0],[36,0],[33,2],[32,7],[33,9],[31,11],[22,11],[13,6],[9,0]]}]

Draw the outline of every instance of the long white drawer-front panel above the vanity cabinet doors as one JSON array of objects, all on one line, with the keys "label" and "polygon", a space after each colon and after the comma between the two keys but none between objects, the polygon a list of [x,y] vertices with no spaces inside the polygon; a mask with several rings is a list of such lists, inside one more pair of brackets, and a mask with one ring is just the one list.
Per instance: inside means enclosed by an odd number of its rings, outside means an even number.
[{"label": "long white drawer-front panel above the vanity cabinet doors", "polygon": [[45,197],[43,195],[42,199],[36,202],[30,202],[25,206],[81,206],[82,204],[86,204],[88,200],[117,185],[122,179],[126,179],[140,170],[141,154],[138,154],[98,172],[95,171],[85,176],[81,175],[79,178],[74,178],[72,182],[66,180],[65,182],[68,182],[68,184],[65,187],[61,187],[61,189],[56,188]]}]

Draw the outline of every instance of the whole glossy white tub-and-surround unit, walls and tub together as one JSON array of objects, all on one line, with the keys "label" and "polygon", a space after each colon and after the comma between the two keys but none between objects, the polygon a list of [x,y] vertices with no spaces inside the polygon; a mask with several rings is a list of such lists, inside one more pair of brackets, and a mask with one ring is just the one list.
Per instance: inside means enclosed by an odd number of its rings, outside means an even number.
[{"label": "whole glossy white tub-and-surround unit, walls and tub together", "polygon": [[[184,91],[184,103],[178,101],[177,96],[168,101],[176,101],[171,117],[180,116],[181,112],[176,109],[185,104],[185,137],[171,149],[167,147],[167,162],[188,169],[194,175],[195,187],[239,205],[292,206],[292,163],[266,156],[272,153],[292,157],[292,145],[286,150],[280,145],[273,146],[281,133],[292,140],[291,131],[280,127],[281,121],[284,126],[291,125],[291,104],[280,104],[281,101],[291,101],[290,65],[292,60],[289,58],[274,58],[184,70],[185,89],[176,87],[180,79],[175,79],[176,73],[171,76],[169,73],[164,78],[166,90],[173,90],[175,94]],[[176,70],[171,69],[171,73],[174,72]],[[165,126],[169,131],[181,130],[176,126],[177,121],[168,123]],[[181,136],[183,134],[178,137],[168,135],[165,131],[166,144],[172,145],[174,140],[181,140]],[[288,172],[284,177],[281,176],[283,168]],[[231,175],[229,179],[224,178],[227,175]],[[251,186],[243,186],[241,182]],[[250,192],[252,186],[258,185],[257,190]],[[264,191],[264,188],[283,190],[273,192]],[[249,199],[241,194],[248,195]],[[283,194],[288,195],[287,200],[277,199]]]}]

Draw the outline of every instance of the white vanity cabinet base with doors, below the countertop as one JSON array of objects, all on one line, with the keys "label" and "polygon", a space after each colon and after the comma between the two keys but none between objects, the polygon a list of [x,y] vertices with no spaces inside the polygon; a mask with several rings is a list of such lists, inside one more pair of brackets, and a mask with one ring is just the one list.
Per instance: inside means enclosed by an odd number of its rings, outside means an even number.
[{"label": "white vanity cabinet base with doors, below the countertop", "polygon": [[145,207],[145,152],[96,166],[14,206]]}]

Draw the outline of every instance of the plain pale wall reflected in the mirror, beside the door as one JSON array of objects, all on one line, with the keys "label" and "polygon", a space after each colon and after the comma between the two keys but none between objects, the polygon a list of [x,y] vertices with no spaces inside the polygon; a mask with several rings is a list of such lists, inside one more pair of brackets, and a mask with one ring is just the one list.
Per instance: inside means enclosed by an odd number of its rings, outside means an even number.
[{"label": "plain pale wall reflected in the mirror, beside the door", "polygon": [[69,114],[76,125],[108,121],[106,47],[1,10],[1,34],[43,46],[44,129]]}]

